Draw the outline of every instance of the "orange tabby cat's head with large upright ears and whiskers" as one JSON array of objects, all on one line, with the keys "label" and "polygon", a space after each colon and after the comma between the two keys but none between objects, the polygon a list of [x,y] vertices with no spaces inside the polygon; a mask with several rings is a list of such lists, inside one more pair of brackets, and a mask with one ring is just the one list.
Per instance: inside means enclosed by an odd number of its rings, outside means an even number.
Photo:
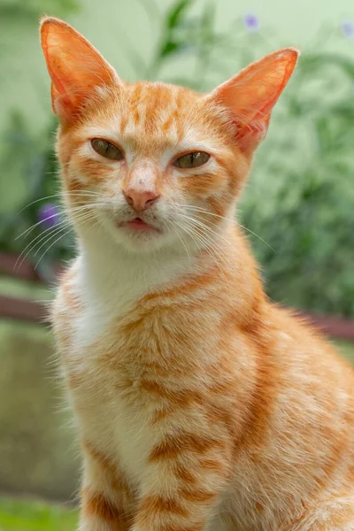
[{"label": "orange tabby cat's head with large upright ears and whiskers", "polygon": [[101,231],[135,251],[210,243],[234,215],[298,52],[275,51],[198,94],[121,81],[59,19],[43,19],[41,36],[65,201],[79,234]]}]

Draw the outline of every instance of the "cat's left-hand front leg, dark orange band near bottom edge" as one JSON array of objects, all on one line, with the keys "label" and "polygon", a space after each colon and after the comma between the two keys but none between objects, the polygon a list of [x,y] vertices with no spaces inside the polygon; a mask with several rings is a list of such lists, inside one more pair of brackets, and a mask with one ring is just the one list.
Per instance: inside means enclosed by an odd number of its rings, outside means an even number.
[{"label": "cat's left-hand front leg, dark orange band near bottom edge", "polygon": [[83,450],[79,531],[129,531],[135,500],[124,474],[91,444]]}]

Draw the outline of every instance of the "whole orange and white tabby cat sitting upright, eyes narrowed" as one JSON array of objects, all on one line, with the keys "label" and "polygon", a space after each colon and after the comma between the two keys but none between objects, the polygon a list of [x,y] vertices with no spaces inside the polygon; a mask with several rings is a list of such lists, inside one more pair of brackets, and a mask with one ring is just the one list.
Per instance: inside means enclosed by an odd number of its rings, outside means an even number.
[{"label": "whole orange and white tabby cat sitting upright, eyes narrowed", "polygon": [[267,300],[234,221],[297,51],[196,94],[121,81],[58,19],[42,48],[79,247],[53,319],[81,531],[354,529],[353,374]]}]

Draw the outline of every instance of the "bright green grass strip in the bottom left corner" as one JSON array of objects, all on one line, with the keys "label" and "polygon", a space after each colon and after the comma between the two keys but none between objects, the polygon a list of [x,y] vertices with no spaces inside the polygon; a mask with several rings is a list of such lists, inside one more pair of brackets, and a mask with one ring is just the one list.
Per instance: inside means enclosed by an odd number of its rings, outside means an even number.
[{"label": "bright green grass strip in the bottom left corner", "polygon": [[74,531],[77,520],[60,505],[0,498],[0,531]]}]

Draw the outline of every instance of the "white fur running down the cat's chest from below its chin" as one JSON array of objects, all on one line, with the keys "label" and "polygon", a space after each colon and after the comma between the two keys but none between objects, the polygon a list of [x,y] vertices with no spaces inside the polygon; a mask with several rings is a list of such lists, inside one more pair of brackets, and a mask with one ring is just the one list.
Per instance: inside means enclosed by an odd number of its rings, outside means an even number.
[{"label": "white fur running down the cat's chest from below its chin", "polygon": [[130,481],[139,482],[153,445],[149,405],[138,406],[122,392],[127,382],[130,396],[138,392],[139,367],[133,377],[124,363],[124,342],[112,335],[112,327],[148,292],[148,286],[157,287],[161,280],[186,271],[186,266],[177,263],[173,270],[164,270],[161,264],[145,263],[142,273],[136,264],[126,267],[117,260],[115,267],[112,274],[104,264],[94,262],[92,267],[92,261],[88,265],[83,257],[75,265],[73,289],[82,308],[73,315],[73,348],[65,372],[68,381],[76,382],[70,393],[81,439],[118,458]]}]

